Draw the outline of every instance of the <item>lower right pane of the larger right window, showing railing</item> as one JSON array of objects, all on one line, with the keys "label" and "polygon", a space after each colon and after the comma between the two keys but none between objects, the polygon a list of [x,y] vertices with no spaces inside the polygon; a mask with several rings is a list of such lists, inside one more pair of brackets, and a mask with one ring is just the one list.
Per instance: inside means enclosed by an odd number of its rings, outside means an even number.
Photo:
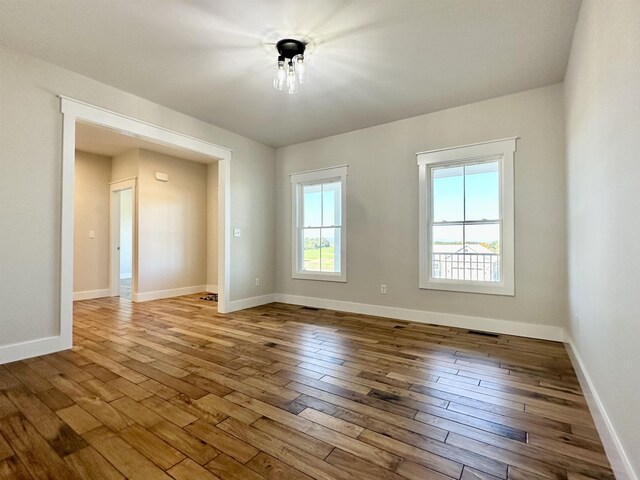
[{"label": "lower right pane of the larger right window, showing railing", "polygon": [[500,281],[500,224],[466,225],[465,278]]}]

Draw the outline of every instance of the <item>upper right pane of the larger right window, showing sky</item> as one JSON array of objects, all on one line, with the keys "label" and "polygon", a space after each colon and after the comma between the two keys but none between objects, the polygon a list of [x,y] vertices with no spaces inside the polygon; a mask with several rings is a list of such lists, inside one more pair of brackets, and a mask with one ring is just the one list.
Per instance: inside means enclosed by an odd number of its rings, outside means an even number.
[{"label": "upper right pane of the larger right window, showing sky", "polygon": [[465,220],[500,218],[498,162],[467,165],[465,169]]}]

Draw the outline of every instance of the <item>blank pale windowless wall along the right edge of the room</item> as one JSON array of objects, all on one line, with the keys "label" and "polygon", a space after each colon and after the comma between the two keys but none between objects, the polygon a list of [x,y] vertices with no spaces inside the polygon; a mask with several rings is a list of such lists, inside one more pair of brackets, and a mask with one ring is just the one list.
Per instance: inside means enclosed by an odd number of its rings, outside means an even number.
[{"label": "blank pale windowless wall along the right edge of the room", "polygon": [[640,2],[585,0],[565,102],[570,336],[640,478]]}]

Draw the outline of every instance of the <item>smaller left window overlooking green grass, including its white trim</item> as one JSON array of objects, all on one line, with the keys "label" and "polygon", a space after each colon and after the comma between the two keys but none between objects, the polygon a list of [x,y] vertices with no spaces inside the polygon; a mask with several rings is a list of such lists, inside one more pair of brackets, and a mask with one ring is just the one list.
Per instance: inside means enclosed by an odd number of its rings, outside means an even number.
[{"label": "smaller left window overlooking green grass, including its white trim", "polygon": [[347,281],[347,167],[291,175],[292,276]]}]

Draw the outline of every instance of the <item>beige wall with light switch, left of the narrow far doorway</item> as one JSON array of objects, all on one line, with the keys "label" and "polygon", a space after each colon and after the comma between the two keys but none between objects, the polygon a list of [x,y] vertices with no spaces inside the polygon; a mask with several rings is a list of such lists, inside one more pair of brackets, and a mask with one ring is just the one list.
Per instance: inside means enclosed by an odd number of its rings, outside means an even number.
[{"label": "beige wall with light switch, left of the narrow far doorway", "polygon": [[[76,150],[73,291],[105,296],[109,288],[111,158]],[[89,238],[93,231],[95,237]],[[99,292],[102,291],[102,292]]]}]

